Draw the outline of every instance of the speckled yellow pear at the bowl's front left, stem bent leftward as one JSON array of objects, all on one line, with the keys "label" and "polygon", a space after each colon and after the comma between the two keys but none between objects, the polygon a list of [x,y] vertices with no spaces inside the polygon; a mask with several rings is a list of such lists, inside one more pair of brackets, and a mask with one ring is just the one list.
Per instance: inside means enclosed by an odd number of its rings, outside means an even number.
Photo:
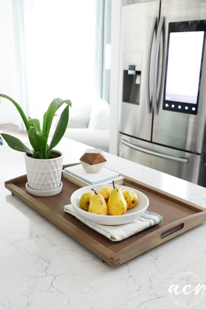
[{"label": "speckled yellow pear at the bowl's front left, stem bent leftward", "polygon": [[105,199],[100,193],[96,193],[94,189],[92,189],[95,194],[92,195],[90,199],[89,209],[88,211],[92,214],[107,214],[107,203]]}]

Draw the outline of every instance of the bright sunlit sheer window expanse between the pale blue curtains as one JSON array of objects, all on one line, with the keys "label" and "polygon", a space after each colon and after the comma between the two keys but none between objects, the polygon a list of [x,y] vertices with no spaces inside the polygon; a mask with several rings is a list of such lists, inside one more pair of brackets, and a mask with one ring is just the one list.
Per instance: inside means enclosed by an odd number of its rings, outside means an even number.
[{"label": "bright sunlit sheer window expanse between the pale blue curtains", "polygon": [[41,122],[53,98],[75,106],[95,95],[95,0],[23,4],[29,116]]}]

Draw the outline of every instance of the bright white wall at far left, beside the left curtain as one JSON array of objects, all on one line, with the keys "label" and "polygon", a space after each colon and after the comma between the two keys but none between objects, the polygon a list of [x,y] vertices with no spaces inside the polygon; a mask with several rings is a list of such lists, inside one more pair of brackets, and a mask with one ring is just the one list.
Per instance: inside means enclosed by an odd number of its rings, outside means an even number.
[{"label": "bright white wall at far left, beside the left curtain", "polygon": [[[0,93],[18,100],[12,1],[1,0],[0,12]],[[19,113],[15,106],[4,98],[0,99],[0,125],[18,125]]]}]

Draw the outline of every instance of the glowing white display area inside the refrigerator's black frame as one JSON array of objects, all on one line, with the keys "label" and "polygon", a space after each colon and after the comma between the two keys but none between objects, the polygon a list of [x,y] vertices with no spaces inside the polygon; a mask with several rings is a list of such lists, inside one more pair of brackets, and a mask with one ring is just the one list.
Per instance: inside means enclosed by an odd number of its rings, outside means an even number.
[{"label": "glowing white display area inside the refrigerator's black frame", "polygon": [[171,32],[165,99],[197,103],[204,31]]}]

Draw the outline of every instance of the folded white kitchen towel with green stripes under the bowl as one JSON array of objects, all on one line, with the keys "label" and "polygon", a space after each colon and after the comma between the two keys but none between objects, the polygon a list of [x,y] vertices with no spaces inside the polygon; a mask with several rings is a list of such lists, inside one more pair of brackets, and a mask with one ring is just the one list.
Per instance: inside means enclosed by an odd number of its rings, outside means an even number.
[{"label": "folded white kitchen towel with green stripes under the bowl", "polygon": [[88,225],[90,228],[99,232],[100,234],[104,235],[112,241],[120,241],[126,239],[129,236],[141,232],[150,226],[162,222],[162,217],[159,214],[145,211],[145,213],[140,218],[130,223],[121,225],[103,225],[85,220],[77,214],[71,204],[64,206],[64,211],[68,214],[73,215],[81,222]]}]

